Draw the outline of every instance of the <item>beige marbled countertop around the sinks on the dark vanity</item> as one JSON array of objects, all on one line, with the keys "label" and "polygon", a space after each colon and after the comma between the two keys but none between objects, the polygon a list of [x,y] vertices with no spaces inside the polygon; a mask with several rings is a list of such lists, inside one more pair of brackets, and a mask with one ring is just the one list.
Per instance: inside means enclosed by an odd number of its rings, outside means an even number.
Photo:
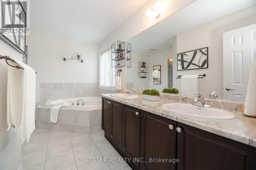
[{"label": "beige marbled countertop around the sinks on the dark vanity", "polygon": [[152,102],[143,100],[141,96],[135,99],[119,99],[111,94],[102,94],[102,97],[256,147],[256,118],[247,117],[238,111],[228,110],[236,115],[236,119],[206,120],[182,116],[162,109],[162,105],[178,103],[177,101],[159,99]]}]

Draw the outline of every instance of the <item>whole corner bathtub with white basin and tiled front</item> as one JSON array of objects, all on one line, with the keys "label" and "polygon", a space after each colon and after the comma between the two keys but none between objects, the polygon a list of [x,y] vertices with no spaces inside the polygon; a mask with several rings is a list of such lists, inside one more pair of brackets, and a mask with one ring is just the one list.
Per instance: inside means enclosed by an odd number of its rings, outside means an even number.
[{"label": "whole corner bathtub with white basin and tiled front", "polygon": [[[76,103],[79,99],[79,106]],[[74,106],[71,106],[71,102]],[[82,103],[85,102],[84,106]],[[50,121],[51,108],[63,105],[58,112],[57,123]],[[71,99],[50,99],[40,103],[36,109],[36,128],[50,131],[93,134],[101,129],[101,98],[85,97]]]}]

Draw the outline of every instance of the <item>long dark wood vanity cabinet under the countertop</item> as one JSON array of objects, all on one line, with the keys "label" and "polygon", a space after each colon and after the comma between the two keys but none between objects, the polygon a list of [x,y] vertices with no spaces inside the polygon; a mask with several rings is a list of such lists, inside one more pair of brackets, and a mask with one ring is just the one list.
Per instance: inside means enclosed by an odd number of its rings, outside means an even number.
[{"label": "long dark wood vanity cabinet under the countertop", "polygon": [[101,126],[134,170],[256,169],[254,147],[104,98]]}]

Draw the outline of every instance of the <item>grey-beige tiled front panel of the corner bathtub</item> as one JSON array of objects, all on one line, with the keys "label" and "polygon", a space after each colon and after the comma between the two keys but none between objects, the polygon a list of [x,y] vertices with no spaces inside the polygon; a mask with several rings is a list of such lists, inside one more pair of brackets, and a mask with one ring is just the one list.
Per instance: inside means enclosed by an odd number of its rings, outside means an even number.
[{"label": "grey-beige tiled front panel of the corner bathtub", "polygon": [[69,110],[59,109],[56,123],[50,121],[50,109],[38,105],[36,129],[71,133],[93,134],[101,131],[101,109]]}]

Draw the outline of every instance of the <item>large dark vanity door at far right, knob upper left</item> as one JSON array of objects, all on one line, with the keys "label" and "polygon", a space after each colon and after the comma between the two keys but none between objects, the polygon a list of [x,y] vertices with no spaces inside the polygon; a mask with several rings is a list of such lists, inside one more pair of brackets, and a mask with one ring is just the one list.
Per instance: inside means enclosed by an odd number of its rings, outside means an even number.
[{"label": "large dark vanity door at far right, knob upper left", "polygon": [[184,124],[178,128],[178,170],[256,169],[255,148]]}]

